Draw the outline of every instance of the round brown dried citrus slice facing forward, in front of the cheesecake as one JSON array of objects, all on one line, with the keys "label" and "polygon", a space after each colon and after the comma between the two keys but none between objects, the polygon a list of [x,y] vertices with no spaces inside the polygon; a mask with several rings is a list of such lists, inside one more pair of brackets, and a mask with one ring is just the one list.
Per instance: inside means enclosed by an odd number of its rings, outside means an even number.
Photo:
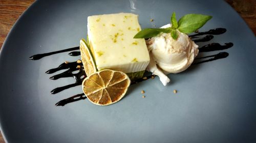
[{"label": "round brown dried citrus slice facing forward, in front of the cheesecake", "polygon": [[101,70],[86,77],[82,89],[92,103],[110,105],[123,98],[130,83],[130,78],[123,72]]}]

